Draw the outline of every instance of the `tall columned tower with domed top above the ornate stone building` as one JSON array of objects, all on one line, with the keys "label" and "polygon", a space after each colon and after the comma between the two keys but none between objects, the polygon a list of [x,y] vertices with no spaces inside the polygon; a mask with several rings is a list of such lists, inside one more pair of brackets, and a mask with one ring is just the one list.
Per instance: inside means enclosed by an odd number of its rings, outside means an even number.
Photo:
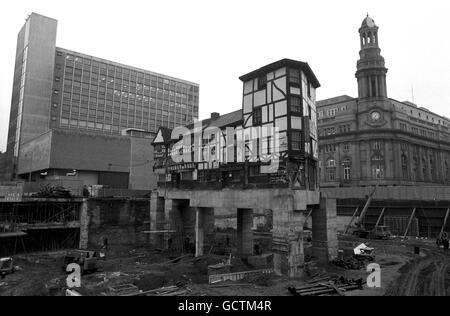
[{"label": "tall columned tower with domed top above the ornate stone building", "polygon": [[357,64],[358,97],[362,99],[386,99],[386,73],[384,58],[378,43],[378,26],[367,15],[359,29],[361,42]]}]

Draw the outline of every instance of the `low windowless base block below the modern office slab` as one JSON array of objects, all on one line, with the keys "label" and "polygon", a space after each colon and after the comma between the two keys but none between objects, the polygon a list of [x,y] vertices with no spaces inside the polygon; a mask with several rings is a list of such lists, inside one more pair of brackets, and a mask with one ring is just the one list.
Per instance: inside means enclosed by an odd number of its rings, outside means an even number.
[{"label": "low windowless base block below the modern office slab", "polygon": [[22,145],[18,173],[75,169],[87,185],[104,184],[101,175],[130,174],[124,188],[151,190],[157,183],[153,159],[147,138],[51,130]]}]

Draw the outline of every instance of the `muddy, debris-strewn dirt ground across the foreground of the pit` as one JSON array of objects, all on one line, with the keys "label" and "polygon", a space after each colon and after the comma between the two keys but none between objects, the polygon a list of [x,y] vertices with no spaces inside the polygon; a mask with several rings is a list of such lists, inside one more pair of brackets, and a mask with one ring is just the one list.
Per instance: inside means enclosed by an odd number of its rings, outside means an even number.
[{"label": "muddy, debris-strewn dirt ground across the foreground of the pit", "polygon": [[[360,243],[375,248],[375,262],[381,266],[381,288],[346,292],[348,296],[411,296],[450,294],[450,256],[438,250],[434,241],[390,240],[367,241],[352,237],[340,237],[339,247],[351,253]],[[420,247],[420,255],[414,254]],[[0,296],[62,296],[66,289],[67,275],[62,270],[64,251],[55,253],[26,254],[14,257],[19,270],[0,279]],[[200,260],[191,257],[176,263],[169,260],[179,257],[175,253],[161,253],[146,248],[120,247],[109,250],[107,260],[100,263],[100,270],[82,278],[83,295],[109,295],[109,288],[120,284],[133,284],[141,291],[163,286],[187,287],[193,296],[289,296],[288,287],[302,286],[315,275],[343,276],[347,279],[366,280],[365,269],[345,270],[334,265],[308,263],[302,277],[288,279],[277,276],[261,276],[240,282],[208,284],[208,266],[226,260],[223,256],[205,256]],[[259,269],[240,259],[233,258],[230,272]]]}]

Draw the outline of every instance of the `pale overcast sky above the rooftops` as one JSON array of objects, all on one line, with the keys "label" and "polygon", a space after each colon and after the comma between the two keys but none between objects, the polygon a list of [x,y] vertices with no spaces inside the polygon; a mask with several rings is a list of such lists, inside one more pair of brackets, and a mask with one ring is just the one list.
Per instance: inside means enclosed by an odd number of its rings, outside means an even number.
[{"label": "pale overcast sky above the rooftops", "polygon": [[388,96],[414,95],[450,117],[448,0],[21,0],[1,1],[0,12],[1,151],[17,33],[31,12],[58,20],[59,47],[199,83],[201,119],[241,108],[239,76],[282,58],[309,63],[319,100],[356,97],[358,29],[368,12],[380,27]]}]

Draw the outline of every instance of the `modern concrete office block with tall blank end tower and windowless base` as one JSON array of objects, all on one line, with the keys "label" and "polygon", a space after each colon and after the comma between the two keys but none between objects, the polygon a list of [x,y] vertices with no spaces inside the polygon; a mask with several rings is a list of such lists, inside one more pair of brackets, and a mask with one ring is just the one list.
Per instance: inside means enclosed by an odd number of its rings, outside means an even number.
[{"label": "modern concrete office block with tall blank end tower and windowless base", "polygon": [[199,86],[56,47],[56,32],[56,20],[32,13],[18,35],[6,178],[76,170],[86,184],[133,187],[134,167],[153,165],[126,139],[150,148],[159,127],[198,118]]}]

